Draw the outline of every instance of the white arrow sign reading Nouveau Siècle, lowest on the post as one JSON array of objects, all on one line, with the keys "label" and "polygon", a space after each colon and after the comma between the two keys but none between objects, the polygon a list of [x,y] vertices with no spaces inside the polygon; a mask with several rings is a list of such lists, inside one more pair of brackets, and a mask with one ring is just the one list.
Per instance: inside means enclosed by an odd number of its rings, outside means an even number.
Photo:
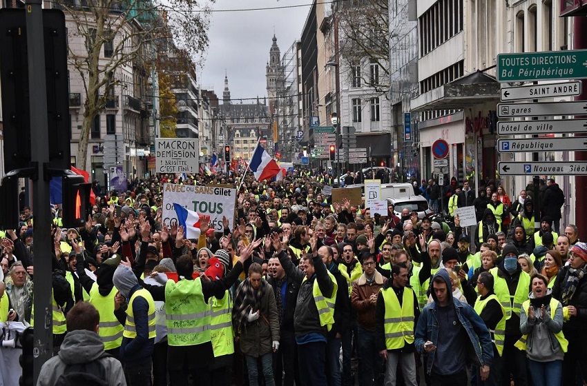
[{"label": "white arrow sign reading Nouveau Si\u00e8cle, lowest on the post", "polygon": [[587,175],[587,161],[574,162],[499,162],[497,170],[502,176],[547,175]]}]

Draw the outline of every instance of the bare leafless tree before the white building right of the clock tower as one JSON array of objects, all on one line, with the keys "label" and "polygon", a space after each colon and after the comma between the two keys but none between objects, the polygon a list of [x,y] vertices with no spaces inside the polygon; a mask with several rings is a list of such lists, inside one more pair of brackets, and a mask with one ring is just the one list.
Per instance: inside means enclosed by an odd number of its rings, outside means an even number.
[{"label": "bare leafless tree before the white building right of the clock tower", "polygon": [[[347,73],[361,84],[389,98],[389,8],[388,0],[348,1],[338,8],[339,50]],[[368,64],[367,64],[368,63]],[[376,74],[369,64],[377,63]],[[367,65],[365,65],[367,64]],[[356,71],[356,67],[360,70]]]}]

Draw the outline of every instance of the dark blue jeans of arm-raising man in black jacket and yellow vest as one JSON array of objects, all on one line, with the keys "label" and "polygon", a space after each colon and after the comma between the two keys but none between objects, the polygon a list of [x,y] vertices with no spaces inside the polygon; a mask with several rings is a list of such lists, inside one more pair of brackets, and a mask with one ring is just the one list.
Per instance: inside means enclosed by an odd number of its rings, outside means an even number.
[{"label": "dark blue jeans of arm-raising man in black jacket and yellow vest", "polygon": [[302,386],[327,385],[325,361],[325,342],[298,345],[298,362],[300,363]]}]

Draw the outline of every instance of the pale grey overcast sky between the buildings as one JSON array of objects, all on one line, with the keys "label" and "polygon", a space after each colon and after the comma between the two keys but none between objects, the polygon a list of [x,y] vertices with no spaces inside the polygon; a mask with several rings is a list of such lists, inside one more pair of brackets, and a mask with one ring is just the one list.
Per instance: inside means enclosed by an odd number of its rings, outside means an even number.
[{"label": "pale grey overcast sky between the buildings", "polygon": [[[311,0],[216,0],[213,9],[273,8],[309,3]],[[202,88],[213,87],[222,99],[226,70],[231,99],[266,96],[265,66],[273,31],[283,54],[300,39],[309,9],[308,5],[279,10],[213,12],[210,47],[198,83]]]}]

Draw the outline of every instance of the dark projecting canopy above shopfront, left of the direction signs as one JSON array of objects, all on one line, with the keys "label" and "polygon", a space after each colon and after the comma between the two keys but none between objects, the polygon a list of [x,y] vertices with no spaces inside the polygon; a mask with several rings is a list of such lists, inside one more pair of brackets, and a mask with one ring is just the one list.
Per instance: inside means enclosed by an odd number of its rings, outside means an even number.
[{"label": "dark projecting canopy above shopfront, left of the direction signs", "polygon": [[412,112],[424,110],[461,110],[471,105],[499,101],[501,85],[485,72],[477,70],[412,99]]}]

